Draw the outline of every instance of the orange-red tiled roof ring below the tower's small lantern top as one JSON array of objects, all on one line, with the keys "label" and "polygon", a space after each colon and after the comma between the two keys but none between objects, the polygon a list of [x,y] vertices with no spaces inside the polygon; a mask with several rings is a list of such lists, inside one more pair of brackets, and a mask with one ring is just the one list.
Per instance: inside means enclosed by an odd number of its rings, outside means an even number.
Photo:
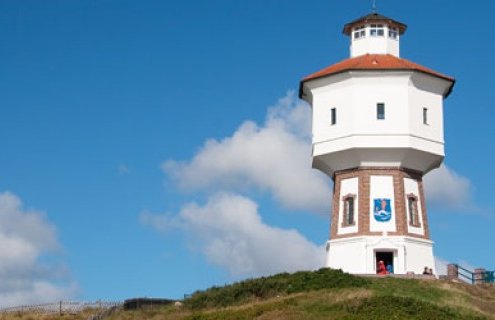
[{"label": "orange-red tiled roof ring below the tower's small lantern top", "polygon": [[[439,72],[433,71],[429,68],[423,67],[417,63],[411,62],[406,59],[402,59],[391,54],[365,54],[362,56],[346,59],[331,65],[318,72],[310,74],[301,81],[301,88],[304,82],[314,80],[345,71],[360,70],[360,71],[419,71],[438,78],[445,79],[452,82],[452,86],[455,79]],[[452,89],[452,86],[450,89]],[[302,93],[302,92],[300,92]],[[448,96],[450,91],[446,94]]]}]

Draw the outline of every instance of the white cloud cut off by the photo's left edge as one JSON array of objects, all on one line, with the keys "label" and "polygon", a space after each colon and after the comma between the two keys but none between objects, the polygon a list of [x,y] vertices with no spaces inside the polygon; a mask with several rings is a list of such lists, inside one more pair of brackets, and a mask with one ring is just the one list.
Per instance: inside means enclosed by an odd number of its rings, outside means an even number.
[{"label": "white cloud cut off by the photo's left edge", "polygon": [[43,214],[0,193],[0,307],[68,299],[77,291],[62,263],[42,263],[60,251],[56,230]]}]

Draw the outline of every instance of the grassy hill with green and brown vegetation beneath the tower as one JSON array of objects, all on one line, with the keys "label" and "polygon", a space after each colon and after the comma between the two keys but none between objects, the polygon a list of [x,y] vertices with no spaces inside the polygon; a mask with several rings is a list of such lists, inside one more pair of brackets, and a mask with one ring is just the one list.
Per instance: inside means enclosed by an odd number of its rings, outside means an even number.
[{"label": "grassy hill with green and brown vegetation beneath the tower", "polygon": [[[88,313],[43,319],[86,320]],[[105,319],[495,319],[495,286],[363,278],[321,269],[213,287],[182,306],[117,310]]]}]

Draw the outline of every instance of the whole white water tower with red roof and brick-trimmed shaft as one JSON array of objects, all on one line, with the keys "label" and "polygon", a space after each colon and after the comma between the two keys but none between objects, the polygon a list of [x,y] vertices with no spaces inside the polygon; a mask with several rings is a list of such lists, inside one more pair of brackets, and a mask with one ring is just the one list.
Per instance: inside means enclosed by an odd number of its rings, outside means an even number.
[{"label": "whole white water tower with red roof and brick-trimmed shaft", "polygon": [[304,78],[313,168],[334,181],[327,266],[394,273],[434,267],[422,178],[444,158],[449,76],[399,57],[406,25],[377,13],[344,26],[350,58]]}]

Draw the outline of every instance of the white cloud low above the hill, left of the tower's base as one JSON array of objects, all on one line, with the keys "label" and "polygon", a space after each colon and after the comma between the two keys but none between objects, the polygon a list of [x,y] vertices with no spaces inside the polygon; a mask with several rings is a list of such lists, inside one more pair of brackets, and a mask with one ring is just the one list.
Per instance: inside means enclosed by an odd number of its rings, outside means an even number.
[{"label": "white cloud low above the hill, left of the tower's base", "polygon": [[[163,231],[169,218],[156,215],[145,221]],[[189,203],[178,218],[181,227],[213,264],[232,275],[259,276],[323,266],[325,250],[296,230],[265,224],[258,207],[241,195],[218,193],[200,206]],[[151,223],[150,223],[151,222]],[[174,224],[177,226],[177,224]]]}]

